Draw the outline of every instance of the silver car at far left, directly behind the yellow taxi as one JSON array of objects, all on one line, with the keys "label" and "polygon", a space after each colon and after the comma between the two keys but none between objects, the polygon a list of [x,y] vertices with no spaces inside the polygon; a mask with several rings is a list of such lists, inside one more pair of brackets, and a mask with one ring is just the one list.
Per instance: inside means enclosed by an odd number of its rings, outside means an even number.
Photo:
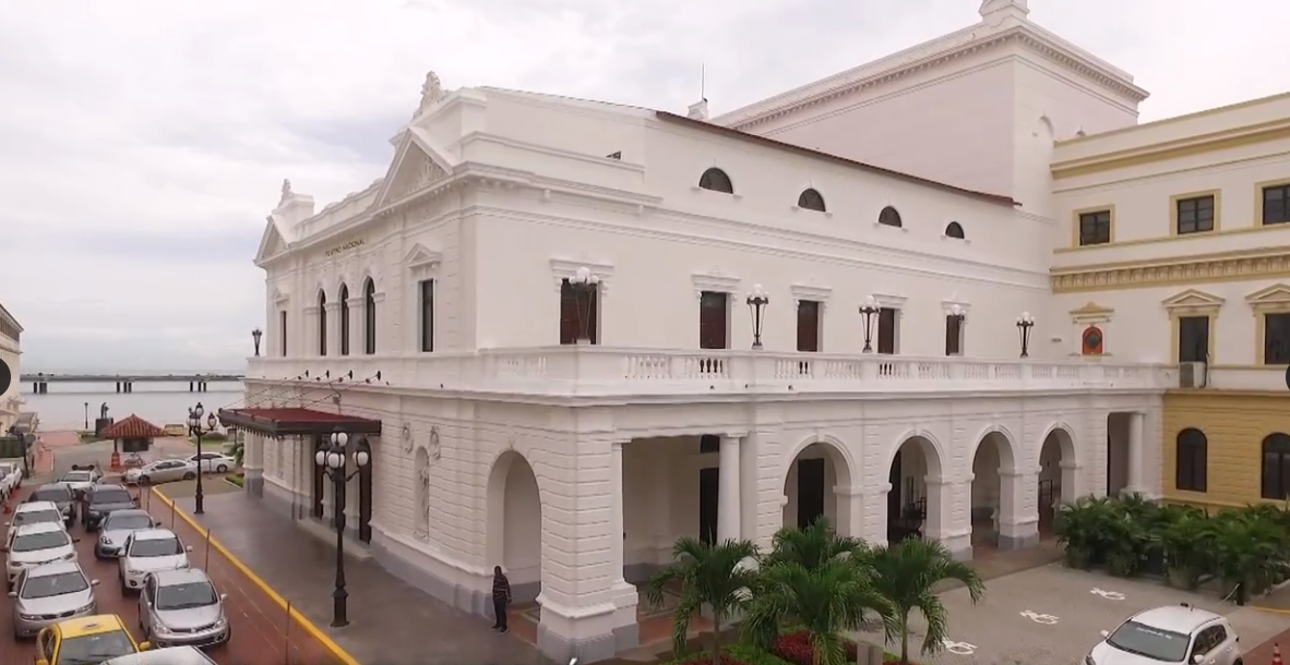
[{"label": "silver car at far left, directly behind the yellow taxi", "polygon": [[75,561],[46,563],[18,575],[13,598],[13,634],[35,637],[40,629],[67,619],[98,613],[94,586]]}]

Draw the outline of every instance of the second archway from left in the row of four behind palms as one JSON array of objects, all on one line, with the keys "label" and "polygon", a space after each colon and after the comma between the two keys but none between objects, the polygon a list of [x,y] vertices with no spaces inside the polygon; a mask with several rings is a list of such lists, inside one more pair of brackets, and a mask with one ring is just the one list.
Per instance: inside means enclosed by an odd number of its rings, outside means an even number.
[{"label": "second archway from left in the row of four behind palms", "polygon": [[[929,485],[929,479],[934,482]],[[888,543],[939,536],[940,456],[931,441],[922,436],[904,439],[891,459],[888,481]]]}]

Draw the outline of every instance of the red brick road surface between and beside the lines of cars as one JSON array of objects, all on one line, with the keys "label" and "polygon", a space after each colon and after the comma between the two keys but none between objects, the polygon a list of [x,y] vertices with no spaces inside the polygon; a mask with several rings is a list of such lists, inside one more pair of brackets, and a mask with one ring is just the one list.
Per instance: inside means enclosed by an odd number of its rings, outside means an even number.
[{"label": "red brick road surface between and beside the lines of cars", "polygon": [[[170,509],[151,492],[143,492],[142,504],[164,525],[170,523]],[[344,665],[302,624],[288,616],[288,612],[263,589],[250,581],[218,549],[210,548],[209,558],[204,537],[182,518],[174,518],[174,531],[194,552],[190,559],[194,567],[205,568],[215,588],[228,595],[224,608],[232,629],[232,639],[224,647],[210,655],[219,665]],[[120,589],[116,562],[94,559],[95,534],[85,534],[80,526],[72,527],[72,536],[79,537],[76,548],[81,566],[92,579],[99,580],[95,590],[99,611],[120,615],[132,626],[135,638],[142,639],[138,629],[138,601],[124,595]],[[31,641],[17,641],[9,626],[13,621],[13,603],[0,599],[0,664],[34,662],[35,646]]]}]

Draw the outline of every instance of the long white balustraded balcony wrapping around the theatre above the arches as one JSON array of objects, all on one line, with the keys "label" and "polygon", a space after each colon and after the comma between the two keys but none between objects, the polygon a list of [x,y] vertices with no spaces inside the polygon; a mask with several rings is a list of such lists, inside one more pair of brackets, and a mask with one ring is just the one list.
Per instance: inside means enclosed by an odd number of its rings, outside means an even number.
[{"label": "long white balustraded balcony wrapping around the theatre above the arches", "polygon": [[[249,358],[248,376],[547,396],[1164,390],[1174,366],[1098,361],[543,347],[464,353]],[[306,376],[304,372],[308,372]],[[381,379],[375,379],[377,372]],[[328,378],[328,372],[330,378]],[[352,372],[352,379],[348,374]]]}]

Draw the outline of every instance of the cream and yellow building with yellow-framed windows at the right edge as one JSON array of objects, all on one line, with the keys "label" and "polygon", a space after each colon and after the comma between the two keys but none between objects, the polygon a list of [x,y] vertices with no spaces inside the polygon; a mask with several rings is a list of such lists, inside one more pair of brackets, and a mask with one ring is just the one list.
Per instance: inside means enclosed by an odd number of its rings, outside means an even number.
[{"label": "cream and yellow building with yellow-framed windows at the right edge", "polygon": [[1071,353],[1179,366],[1164,496],[1285,500],[1290,94],[1059,142],[1051,173]]}]

